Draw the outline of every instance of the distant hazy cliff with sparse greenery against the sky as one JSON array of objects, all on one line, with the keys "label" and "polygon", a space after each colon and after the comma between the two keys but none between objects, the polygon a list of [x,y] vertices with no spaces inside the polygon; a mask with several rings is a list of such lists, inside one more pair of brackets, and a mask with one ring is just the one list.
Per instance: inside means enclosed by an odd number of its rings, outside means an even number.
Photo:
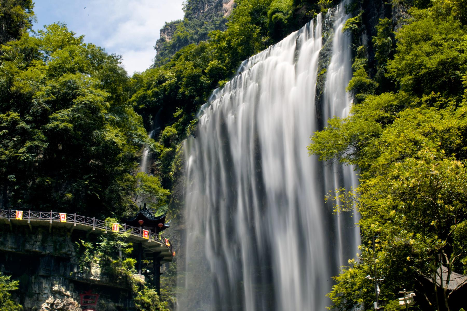
[{"label": "distant hazy cliff with sparse greenery against the sky", "polygon": [[212,30],[225,30],[226,17],[234,7],[234,0],[190,0],[184,6],[184,20],[166,22],[156,41],[154,66],[160,66],[180,48],[206,40]]}]

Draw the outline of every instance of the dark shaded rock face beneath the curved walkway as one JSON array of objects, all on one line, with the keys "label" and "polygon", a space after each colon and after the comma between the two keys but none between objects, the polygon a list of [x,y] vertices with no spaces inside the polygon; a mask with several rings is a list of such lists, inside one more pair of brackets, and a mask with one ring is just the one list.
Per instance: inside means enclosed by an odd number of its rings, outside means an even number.
[{"label": "dark shaded rock face beneath the curved walkway", "polygon": [[[130,289],[96,264],[80,272],[75,242],[83,232],[63,228],[0,228],[0,271],[20,281],[14,294],[25,311],[81,311],[80,294],[99,294],[99,311],[132,310]],[[81,237],[82,238],[82,237]]]}]

